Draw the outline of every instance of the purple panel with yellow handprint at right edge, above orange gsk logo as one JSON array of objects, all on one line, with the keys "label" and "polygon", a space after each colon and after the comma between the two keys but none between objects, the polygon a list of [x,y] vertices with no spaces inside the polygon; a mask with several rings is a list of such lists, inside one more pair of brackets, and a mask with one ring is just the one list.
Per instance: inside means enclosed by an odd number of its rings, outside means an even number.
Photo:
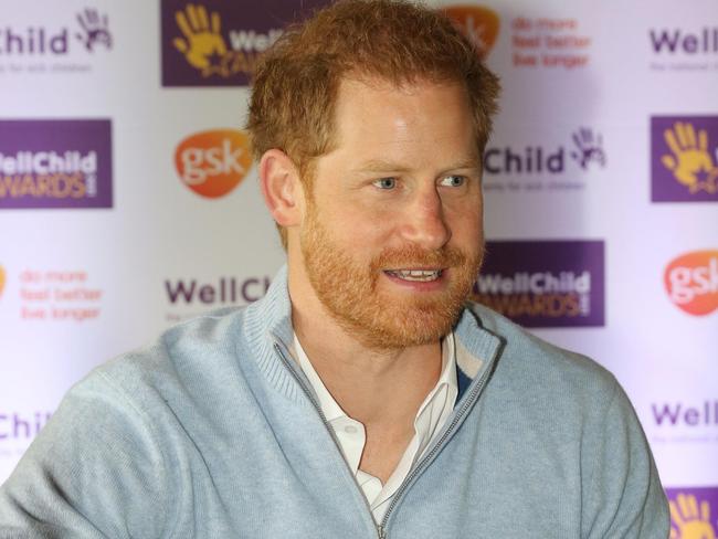
[{"label": "purple panel with yellow handprint at right edge, above orange gsk logo", "polygon": [[654,202],[718,201],[718,116],[651,118]]}]

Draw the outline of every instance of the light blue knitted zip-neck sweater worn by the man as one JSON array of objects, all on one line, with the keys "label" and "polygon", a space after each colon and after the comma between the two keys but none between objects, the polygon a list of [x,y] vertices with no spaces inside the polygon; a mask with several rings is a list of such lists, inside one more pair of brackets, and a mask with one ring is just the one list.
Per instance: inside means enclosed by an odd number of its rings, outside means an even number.
[{"label": "light blue knitted zip-neck sweater worn by the man", "polygon": [[614,378],[476,305],[456,327],[453,415],[374,522],[288,356],[292,335],[283,270],[250,307],[96,369],[0,488],[0,537],[668,536]]}]

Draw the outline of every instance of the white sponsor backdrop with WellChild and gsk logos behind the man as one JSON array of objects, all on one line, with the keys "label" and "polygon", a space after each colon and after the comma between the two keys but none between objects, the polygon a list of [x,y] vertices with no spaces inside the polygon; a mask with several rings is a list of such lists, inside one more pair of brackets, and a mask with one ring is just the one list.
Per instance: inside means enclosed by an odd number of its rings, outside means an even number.
[{"label": "white sponsor backdrop with WellChild and gsk logos behind the man", "polygon": [[[0,480],[94,366],[263,296],[247,85],[327,1],[0,0]],[[675,537],[718,532],[715,2],[433,6],[505,87],[475,298],[612,370]]]}]

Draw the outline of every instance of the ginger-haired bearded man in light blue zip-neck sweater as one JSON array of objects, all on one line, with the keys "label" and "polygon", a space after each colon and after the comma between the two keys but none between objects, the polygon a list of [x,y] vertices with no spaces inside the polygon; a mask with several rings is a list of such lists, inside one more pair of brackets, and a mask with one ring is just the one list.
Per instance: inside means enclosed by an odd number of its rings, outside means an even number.
[{"label": "ginger-haired bearded man in light blue zip-neck sweater", "polygon": [[286,268],[76,385],[2,537],[666,538],[613,377],[465,303],[497,92],[412,4],[287,32],[249,121]]}]

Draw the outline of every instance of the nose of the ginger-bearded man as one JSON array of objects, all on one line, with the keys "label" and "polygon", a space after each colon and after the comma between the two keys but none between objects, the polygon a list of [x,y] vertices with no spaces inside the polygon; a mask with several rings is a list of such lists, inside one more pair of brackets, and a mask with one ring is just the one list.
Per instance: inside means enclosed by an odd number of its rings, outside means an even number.
[{"label": "nose of the ginger-bearded man", "polygon": [[404,240],[427,250],[448,243],[452,233],[435,186],[416,191],[405,212],[402,226]]}]

